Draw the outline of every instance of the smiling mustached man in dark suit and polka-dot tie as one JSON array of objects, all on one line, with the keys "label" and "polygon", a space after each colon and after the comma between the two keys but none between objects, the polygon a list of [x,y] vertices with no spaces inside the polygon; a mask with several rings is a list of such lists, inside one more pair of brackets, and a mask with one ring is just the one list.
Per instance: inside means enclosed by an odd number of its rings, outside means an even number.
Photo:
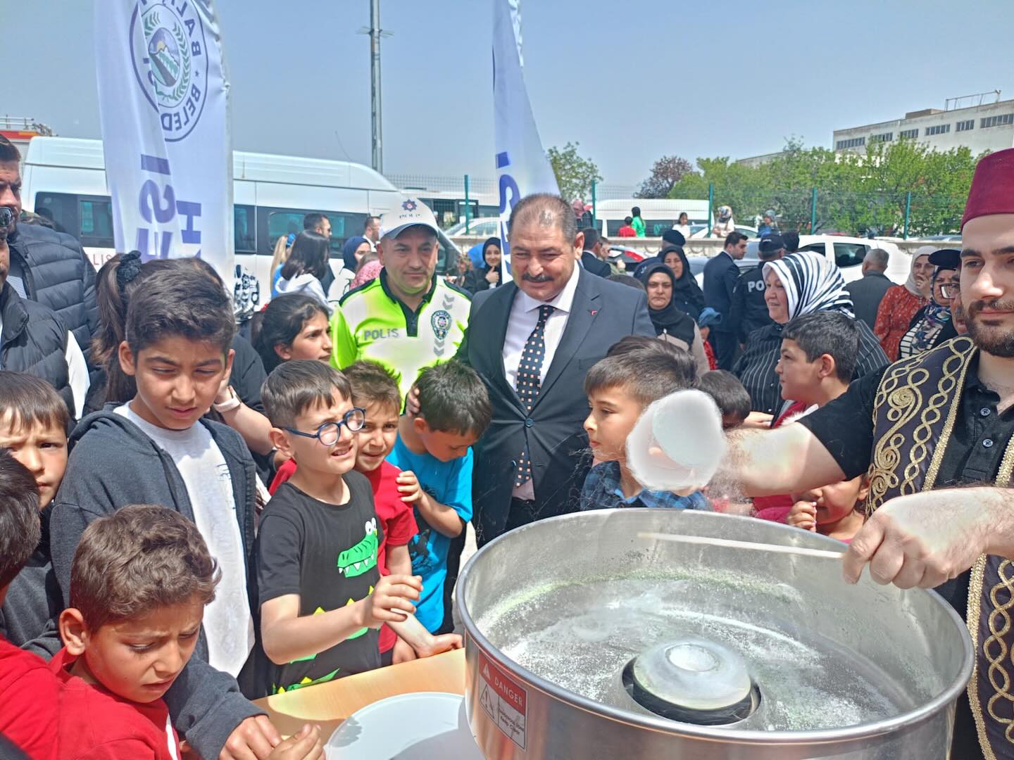
[{"label": "smiling mustached man in dark suit and polka-dot tie", "polygon": [[477,294],[457,354],[493,402],[475,446],[479,545],[575,509],[590,463],[584,376],[622,337],[655,334],[644,292],[577,265],[584,236],[566,201],[528,196],[509,229],[513,282]]}]

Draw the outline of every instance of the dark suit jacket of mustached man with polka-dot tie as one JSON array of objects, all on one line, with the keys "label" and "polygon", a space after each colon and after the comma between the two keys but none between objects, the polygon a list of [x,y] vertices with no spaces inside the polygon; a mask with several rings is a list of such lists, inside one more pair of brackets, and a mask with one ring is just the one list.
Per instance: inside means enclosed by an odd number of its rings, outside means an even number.
[{"label": "dark suit jacket of mustached man with polka-dot tie", "polygon": [[588,416],[584,376],[620,338],[655,334],[643,291],[581,270],[567,326],[529,414],[508,385],[503,363],[507,321],[517,293],[510,282],[476,294],[457,353],[457,359],[483,378],[493,403],[493,422],[474,447],[473,505],[481,544],[504,532],[525,443],[535,515],[552,517],[576,509],[590,463],[582,427]]}]

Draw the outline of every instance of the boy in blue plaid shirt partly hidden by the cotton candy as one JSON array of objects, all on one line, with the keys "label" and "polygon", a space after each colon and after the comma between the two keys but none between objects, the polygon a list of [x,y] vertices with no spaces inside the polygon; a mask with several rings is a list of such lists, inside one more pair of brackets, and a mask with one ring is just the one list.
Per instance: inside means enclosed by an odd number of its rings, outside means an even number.
[{"label": "boy in blue plaid shirt partly hidden by the cotton candy", "polygon": [[582,510],[614,507],[668,507],[707,510],[700,491],[678,497],[647,490],[627,466],[627,437],[651,403],[694,385],[694,359],[655,349],[615,353],[596,363],[584,379],[591,411],[584,421],[588,444],[599,464],[581,489]]}]

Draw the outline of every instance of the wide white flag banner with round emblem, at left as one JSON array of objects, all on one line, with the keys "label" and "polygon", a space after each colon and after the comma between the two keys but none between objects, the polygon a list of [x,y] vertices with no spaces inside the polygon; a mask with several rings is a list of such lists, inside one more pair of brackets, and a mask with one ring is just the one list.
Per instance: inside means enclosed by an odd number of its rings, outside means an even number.
[{"label": "wide white flag banner with round emblem, at left", "polygon": [[229,82],[212,0],[96,0],[95,61],[120,252],[233,279]]}]

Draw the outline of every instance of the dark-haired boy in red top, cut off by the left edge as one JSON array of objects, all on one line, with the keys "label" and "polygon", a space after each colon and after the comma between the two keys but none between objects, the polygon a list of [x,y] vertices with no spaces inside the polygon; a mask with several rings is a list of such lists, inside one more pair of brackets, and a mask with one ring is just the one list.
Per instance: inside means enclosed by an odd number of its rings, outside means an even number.
[{"label": "dark-haired boy in red top, cut off by the left edge", "polygon": [[[39,546],[41,535],[34,478],[9,451],[0,450],[0,603]],[[42,658],[19,649],[2,634],[0,693],[4,695],[0,699],[0,754],[5,758],[7,753],[12,757],[55,757],[53,725],[60,685]]]}]

